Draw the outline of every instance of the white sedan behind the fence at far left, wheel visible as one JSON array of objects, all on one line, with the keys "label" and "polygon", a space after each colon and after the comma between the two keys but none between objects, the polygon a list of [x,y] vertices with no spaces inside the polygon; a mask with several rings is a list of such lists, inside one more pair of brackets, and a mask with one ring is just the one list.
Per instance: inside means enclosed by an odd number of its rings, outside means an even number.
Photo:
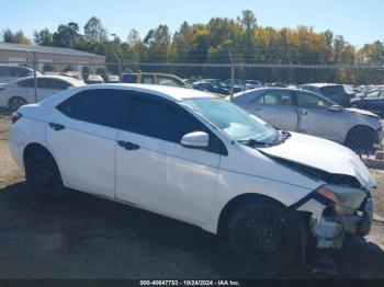
[{"label": "white sedan behind the fence at far left, wheel visible", "polygon": [[68,88],[84,85],[83,81],[79,81],[64,76],[39,74],[36,78],[37,99],[35,99],[34,77],[24,77],[20,78],[19,80],[2,84],[0,87],[0,106],[8,107],[11,111],[15,111],[22,105],[42,101]]}]

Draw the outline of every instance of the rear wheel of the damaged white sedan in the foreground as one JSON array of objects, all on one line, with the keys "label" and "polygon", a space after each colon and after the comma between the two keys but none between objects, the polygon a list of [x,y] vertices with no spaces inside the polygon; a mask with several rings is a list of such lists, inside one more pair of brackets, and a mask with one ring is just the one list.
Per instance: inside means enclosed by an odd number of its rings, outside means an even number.
[{"label": "rear wheel of the damaged white sedan in the foreground", "polygon": [[48,151],[37,149],[27,156],[25,177],[30,191],[39,197],[54,198],[65,194],[59,170]]}]

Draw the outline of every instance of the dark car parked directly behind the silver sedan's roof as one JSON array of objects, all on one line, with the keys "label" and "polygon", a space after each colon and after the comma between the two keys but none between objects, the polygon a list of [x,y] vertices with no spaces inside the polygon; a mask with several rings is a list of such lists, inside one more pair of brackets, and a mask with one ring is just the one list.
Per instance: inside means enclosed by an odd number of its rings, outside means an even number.
[{"label": "dark car parked directly behind the silver sedan's roof", "polygon": [[321,94],[325,97],[328,97],[345,107],[348,107],[350,105],[351,97],[353,97],[354,95],[354,93],[343,84],[307,83],[303,84],[301,88],[310,92]]}]

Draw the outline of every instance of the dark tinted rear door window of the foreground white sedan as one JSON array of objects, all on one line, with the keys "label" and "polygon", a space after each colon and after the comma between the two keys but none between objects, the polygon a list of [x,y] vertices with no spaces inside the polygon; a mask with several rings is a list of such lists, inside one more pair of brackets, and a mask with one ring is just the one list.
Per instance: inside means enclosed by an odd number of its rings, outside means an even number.
[{"label": "dark tinted rear door window of the foreground white sedan", "polygon": [[111,89],[83,91],[57,108],[78,120],[122,128],[126,118],[126,92]]}]

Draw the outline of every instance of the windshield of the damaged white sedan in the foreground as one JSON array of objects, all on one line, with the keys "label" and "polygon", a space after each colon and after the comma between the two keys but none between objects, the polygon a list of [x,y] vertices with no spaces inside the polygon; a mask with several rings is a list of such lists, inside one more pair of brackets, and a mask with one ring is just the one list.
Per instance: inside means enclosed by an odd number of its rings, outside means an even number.
[{"label": "windshield of the damaged white sedan in the foreground", "polygon": [[273,144],[276,129],[228,101],[217,97],[188,99],[187,103],[230,138],[244,144]]}]

